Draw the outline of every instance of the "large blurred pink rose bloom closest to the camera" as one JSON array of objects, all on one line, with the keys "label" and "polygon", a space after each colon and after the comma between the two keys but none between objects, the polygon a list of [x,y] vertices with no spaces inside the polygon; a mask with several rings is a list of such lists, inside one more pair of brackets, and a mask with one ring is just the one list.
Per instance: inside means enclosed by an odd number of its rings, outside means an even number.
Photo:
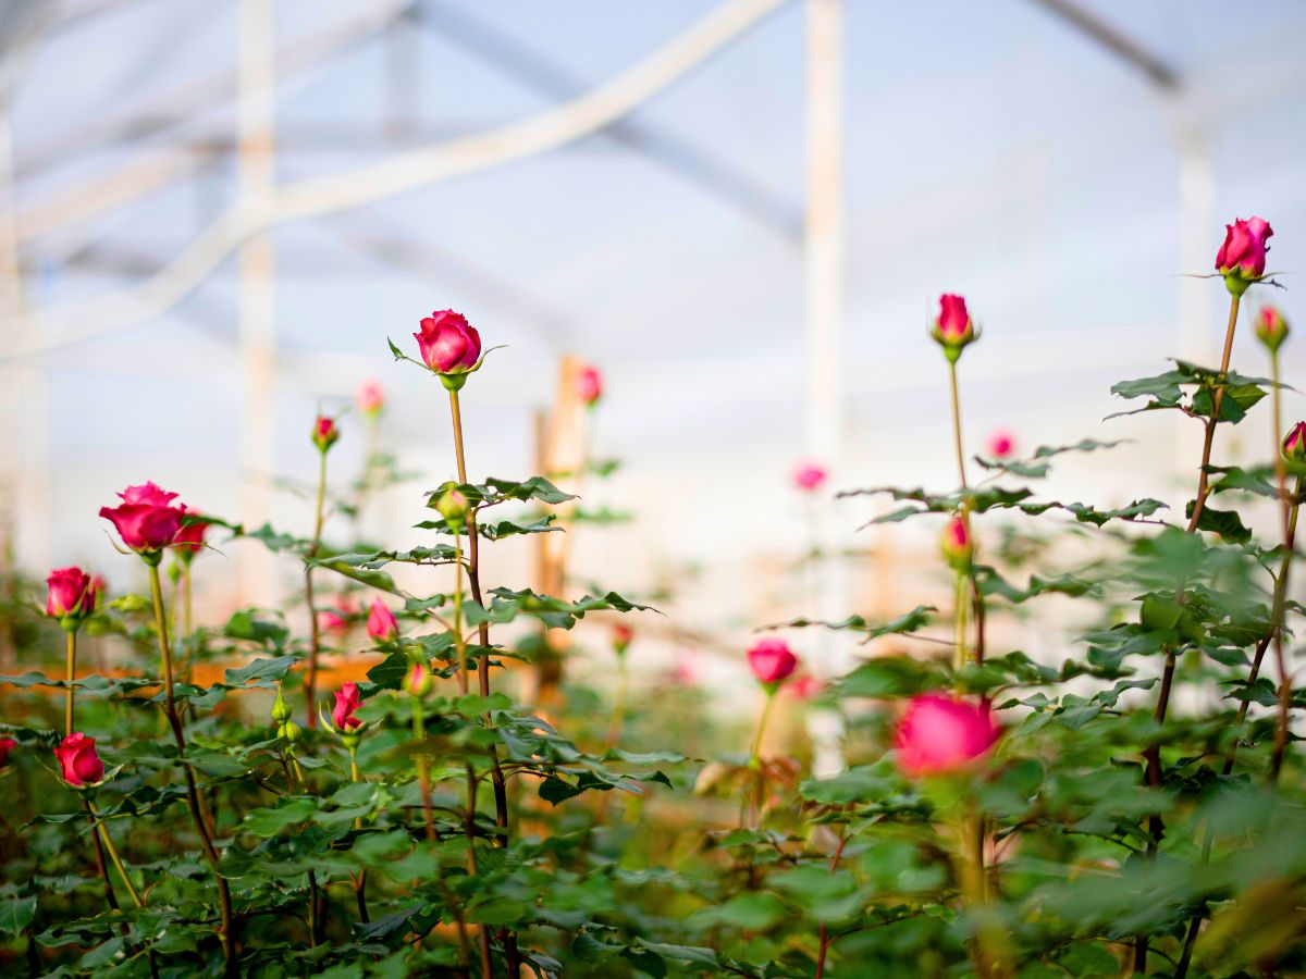
[{"label": "large blurred pink rose bloom closest to the camera", "polygon": [[985,754],[999,734],[987,705],[927,693],[912,698],[893,747],[902,774],[919,778],[965,768]]}]

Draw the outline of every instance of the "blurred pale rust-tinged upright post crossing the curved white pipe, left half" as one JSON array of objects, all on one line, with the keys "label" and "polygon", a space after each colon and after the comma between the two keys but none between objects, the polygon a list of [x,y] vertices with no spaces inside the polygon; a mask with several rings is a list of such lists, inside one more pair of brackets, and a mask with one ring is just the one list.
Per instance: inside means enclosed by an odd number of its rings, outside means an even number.
[{"label": "blurred pale rust-tinged upright post crossing the curved white pipe, left half", "polygon": [[[238,21],[239,208],[244,227],[260,227],[272,209],[276,193],[273,0],[240,0]],[[238,266],[240,520],[247,527],[256,527],[272,516],[272,476],[276,466],[277,296],[276,253],[270,231],[257,231],[246,239],[240,245]],[[239,591],[243,603],[276,602],[273,561],[263,548],[242,548]]]}]

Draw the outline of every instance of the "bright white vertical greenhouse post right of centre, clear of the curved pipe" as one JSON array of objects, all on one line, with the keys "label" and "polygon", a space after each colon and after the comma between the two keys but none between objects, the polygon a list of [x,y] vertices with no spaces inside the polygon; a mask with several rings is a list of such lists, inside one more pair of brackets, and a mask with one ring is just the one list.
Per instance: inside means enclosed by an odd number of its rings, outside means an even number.
[{"label": "bright white vertical greenhouse post right of centre, clear of the curved pipe", "polygon": [[[842,0],[807,0],[807,223],[804,288],[807,328],[807,454],[829,467],[837,484],[844,436],[844,141],[842,141]],[[816,503],[816,610],[823,619],[846,614],[846,582],[833,504]],[[815,672],[821,679],[844,671],[846,642],[818,630]],[[818,777],[844,766],[837,713],[810,714]]]}]

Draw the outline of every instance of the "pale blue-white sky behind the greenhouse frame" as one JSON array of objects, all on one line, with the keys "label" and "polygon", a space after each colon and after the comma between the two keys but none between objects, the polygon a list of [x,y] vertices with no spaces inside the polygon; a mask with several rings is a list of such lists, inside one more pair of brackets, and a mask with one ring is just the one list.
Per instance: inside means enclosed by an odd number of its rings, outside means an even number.
[{"label": "pale blue-white sky behind the greenhouse frame", "polygon": [[[1110,382],[1164,369],[1164,356],[1179,350],[1181,290],[1211,296],[1209,328],[1187,347],[1213,346],[1222,288],[1177,273],[1208,270],[1224,221],[1268,218],[1277,231],[1271,266],[1306,268],[1306,8],[1282,0],[1238,14],[1213,0],[1085,3],[1178,69],[1185,107],[1030,0],[846,4],[850,450],[841,486],[951,484],[944,373],[923,337],[931,302],[949,290],[966,294],[985,325],[963,371],[976,450],[998,426],[1029,448],[1132,436],[1140,441],[1111,463],[1067,466],[1088,480],[1067,493],[1177,500],[1174,429],[1139,420],[1104,428],[1100,419],[1121,407],[1107,397]],[[550,73],[558,85],[602,82],[713,5],[431,0],[422,4],[428,27],[358,44],[286,82],[278,175],[376,159],[388,120],[409,127],[400,145],[415,145],[522,117],[556,101],[524,72]],[[360,9],[283,0],[278,43]],[[140,153],[63,150],[31,168],[51,140],[132,117],[174,86],[229,67],[235,10],[141,0],[51,38],[14,104],[20,206]],[[782,8],[635,121],[798,209],[802,27],[801,4]],[[508,51],[513,68],[492,64],[486,44]],[[1195,269],[1179,258],[1183,116],[1200,123],[1216,181],[1209,257]],[[148,145],[230,137],[231,119],[230,106],[215,107]],[[296,141],[312,149],[296,150]],[[69,257],[88,245],[93,257],[119,249],[149,269],[232,200],[234,168],[222,161],[35,243],[25,253],[33,302],[57,305],[131,285]],[[350,240],[402,245],[406,268]],[[304,476],[312,465],[315,403],[342,403],[359,379],[376,376],[393,398],[387,439],[428,474],[423,486],[445,478],[439,392],[411,367],[390,364],[385,337],[402,342],[422,315],[453,307],[487,343],[509,345],[468,389],[473,469],[528,470],[529,412],[550,397],[556,356],[575,351],[609,377],[598,439],[603,454],[629,461],[615,488],[648,518],[624,531],[644,548],[640,570],[710,559],[721,594],[743,607],[750,598],[737,572],[801,539],[788,484],[802,454],[801,252],[739,206],[599,136],[294,225],[276,241],[281,475]],[[1306,329],[1296,294],[1279,299]],[[27,406],[31,431],[48,428],[51,446],[40,480],[48,512],[31,513],[25,548],[35,564],[116,567],[94,514],[128,482],[153,478],[234,516],[235,324],[227,262],[168,316],[46,362],[48,410],[39,398]],[[1246,341],[1235,360],[1263,372]],[[1288,350],[1289,381],[1306,365],[1299,347]],[[1302,410],[1299,398],[1289,403],[1289,414]],[[360,441],[349,436],[345,465]],[[411,501],[393,505],[394,543],[413,543],[402,536]],[[278,520],[302,521],[296,508],[287,497]],[[850,525],[861,513],[849,513]]]}]

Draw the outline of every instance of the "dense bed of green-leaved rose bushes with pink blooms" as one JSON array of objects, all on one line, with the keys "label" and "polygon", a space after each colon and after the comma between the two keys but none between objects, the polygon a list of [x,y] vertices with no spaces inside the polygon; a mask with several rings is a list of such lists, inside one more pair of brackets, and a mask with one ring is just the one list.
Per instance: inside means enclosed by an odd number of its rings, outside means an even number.
[{"label": "dense bed of green-leaved rose bushes with pink blooms", "polygon": [[[888,621],[757,623],[780,632],[748,650],[746,689],[764,705],[754,730],[709,709],[746,702],[739,689],[627,676],[644,627],[622,623],[660,604],[652,590],[582,594],[576,574],[559,594],[482,581],[482,552],[500,540],[615,518],[559,488],[613,463],[469,475],[461,393],[494,372],[457,313],[422,321],[418,358],[392,343],[448,402],[453,474],[393,550],[358,540],[350,518],[400,474],[374,452],[332,491],[332,418],[312,429],[311,535],[129,487],[102,516],[120,538],[114,560],[140,563],[149,591],[112,595],[80,569],[55,572],[39,599],[31,585],[10,590],[4,638],[20,668],[0,717],[0,967],[1302,974],[1303,691],[1290,667],[1303,608],[1289,577],[1306,426],[1284,440],[1286,325],[1247,308],[1249,288],[1273,285],[1269,235],[1235,222],[1220,251],[1213,278],[1232,308],[1218,368],[1175,362],[1113,389],[1128,409],[1200,428],[1185,514],[1041,491],[1066,453],[1110,466],[1102,439],[968,456],[957,381],[978,333],[965,302],[944,296],[931,334],[952,381],[957,487],[848,495],[887,499],[880,522],[942,525],[952,603]],[[1239,307],[1266,369],[1230,369]],[[579,384],[593,406],[598,375]],[[360,409],[375,426],[380,392]],[[1128,424],[1104,435],[1128,437]],[[1233,426],[1255,432],[1262,465],[1218,465]],[[799,483],[827,492],[819,469]],[[205,551],[229,546],[296,569],[296,599],[192,621],[192,568],[197,582],[222,573]],[[994,623],[1049,597],[1087,623],[1066,629],[1055,662],[995,642]],[[814,688],[778,638],[815,642],[802,629],[897,645],[859,646],[849,672]],[[615,683],[568,674],[573,636],[592,653],[602,637],[588,662],[606,657]],[[777,702],[838,732],[842,770],[814,774],[798,726],[763,738]]]}]

